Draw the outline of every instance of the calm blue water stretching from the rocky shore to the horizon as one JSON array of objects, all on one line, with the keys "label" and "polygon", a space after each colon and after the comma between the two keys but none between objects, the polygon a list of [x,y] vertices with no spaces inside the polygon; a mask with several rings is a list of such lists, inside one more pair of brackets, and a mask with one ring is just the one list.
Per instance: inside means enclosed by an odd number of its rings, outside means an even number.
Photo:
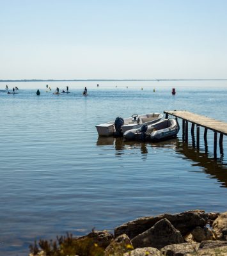
[{"label": "calm blue water stretching from the rocky shore to the horizon", "polygon": [[[174,109],[227,122],[227,81],[52,82],[48,93],[45,85],[8,83],[19,87],[8,95],[0,83],[0,255],[27,255],[34,240],[113,231],[141,216],[227,211],[225,136],[215,161],[211,131],[205,154],[203,129],[198,152],[181,130],[173,140],[139,143],[98,138],[95,128]],[[69,94],[52,94],[67,85]]]}]

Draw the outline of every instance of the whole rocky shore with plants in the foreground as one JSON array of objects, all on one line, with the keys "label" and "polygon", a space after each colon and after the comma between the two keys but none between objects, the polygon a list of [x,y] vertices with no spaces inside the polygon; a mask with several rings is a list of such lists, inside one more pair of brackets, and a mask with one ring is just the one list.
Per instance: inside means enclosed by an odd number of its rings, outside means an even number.
[{"label": "whole rocky shore with plants in the foreground", "polygon": [[227,212],[193,210],[138,218],[114,228],[40,241],[29,256],[227,256]]}]

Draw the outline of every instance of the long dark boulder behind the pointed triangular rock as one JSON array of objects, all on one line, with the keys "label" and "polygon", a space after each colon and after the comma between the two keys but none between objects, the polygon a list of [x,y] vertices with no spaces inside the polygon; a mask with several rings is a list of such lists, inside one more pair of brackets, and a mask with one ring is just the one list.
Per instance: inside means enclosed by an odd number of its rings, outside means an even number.
[{"label": "long dark boulder behind the pointed triangular rock", "polygon": [[169,220],[182,233],[182,236],[185,236],[197,226],[204,227],[208,222],[208,214],[200,210],[187,211],[179,214],[162,214],[156,217],[143,217],[116,227],[114,237],[127,234],[132,239],[153,227],[155,223],[164,218]]}]

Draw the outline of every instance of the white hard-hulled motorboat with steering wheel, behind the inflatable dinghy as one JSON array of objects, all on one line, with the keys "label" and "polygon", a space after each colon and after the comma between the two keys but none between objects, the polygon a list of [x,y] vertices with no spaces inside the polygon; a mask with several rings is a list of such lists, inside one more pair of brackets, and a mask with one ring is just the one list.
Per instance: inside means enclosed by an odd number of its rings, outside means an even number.
[{"label": "white hard-hulled motorboat with steering wheel, behind the inflatable dinghy", "polygon": [[149,113],[145,115],[132,115],[128,118],[117,117],[115,121],[96,125],[99,136],[120,136],[130,129],[139,129],[143,124],[150,125],[163,118],[160,113]]}]

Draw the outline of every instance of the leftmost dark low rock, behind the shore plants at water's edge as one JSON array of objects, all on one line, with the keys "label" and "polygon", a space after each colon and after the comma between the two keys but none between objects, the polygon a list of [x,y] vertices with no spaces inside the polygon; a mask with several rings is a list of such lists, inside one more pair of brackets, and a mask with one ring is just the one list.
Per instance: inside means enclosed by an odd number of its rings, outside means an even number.
[{"label": "leftmost dark low rock, behind the shore plants at water's edge", "polygon": [[98,247],[106,248],[111,241],[113,241],[113,234],[110,234],[106,230],[104,231],[93,231],[86,236],[82,236],[76,239],[79,242],[91,241],[93,244],[97,244]]}]

